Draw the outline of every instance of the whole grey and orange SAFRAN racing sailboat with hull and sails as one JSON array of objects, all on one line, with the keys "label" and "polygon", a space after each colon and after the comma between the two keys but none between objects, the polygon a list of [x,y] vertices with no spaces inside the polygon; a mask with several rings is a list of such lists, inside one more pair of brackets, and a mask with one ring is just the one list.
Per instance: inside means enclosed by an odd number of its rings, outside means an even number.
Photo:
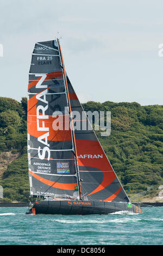
[{"label": "whole grey and orange SAFRAN racing sailboat with hull and sails", "polygon": [[[75,120],[87,129],[75,129]],[[58,129],[58,120],[62,129]],[[130,202],[65,71],[60,40],[35,44],[28,84],[27,214],[141,213]]]}]

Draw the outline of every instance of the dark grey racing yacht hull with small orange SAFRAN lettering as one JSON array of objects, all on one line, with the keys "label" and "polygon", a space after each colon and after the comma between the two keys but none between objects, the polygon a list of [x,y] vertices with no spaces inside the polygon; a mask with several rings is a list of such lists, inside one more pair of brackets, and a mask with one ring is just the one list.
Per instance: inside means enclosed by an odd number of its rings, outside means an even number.
[{"label": "dark grey racing yacht hull with small orange SAFRAN lettering", "polygon": [[141,208],[134,204],[121,202],[49,200],[35,202],[26,214],[90,215],[111,214],[117,211],[140,214]]}]

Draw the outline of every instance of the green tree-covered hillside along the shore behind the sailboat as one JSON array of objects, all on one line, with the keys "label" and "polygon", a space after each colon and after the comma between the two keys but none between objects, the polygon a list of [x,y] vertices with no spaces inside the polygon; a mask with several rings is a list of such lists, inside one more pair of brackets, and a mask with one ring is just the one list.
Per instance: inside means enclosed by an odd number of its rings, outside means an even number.
[{"label": "green tree-covered hillside along the shore behind the sailboat", "polygon": [[[159,196],[163,185],[163,105],[111,101],[82,105],[85,111],[111,111],[110,136],[95,132],[130,199],[163,202],[163,191]],[[0,97],[0,139],[0,203],[29,202],[27,97],[21,102]]]}]

